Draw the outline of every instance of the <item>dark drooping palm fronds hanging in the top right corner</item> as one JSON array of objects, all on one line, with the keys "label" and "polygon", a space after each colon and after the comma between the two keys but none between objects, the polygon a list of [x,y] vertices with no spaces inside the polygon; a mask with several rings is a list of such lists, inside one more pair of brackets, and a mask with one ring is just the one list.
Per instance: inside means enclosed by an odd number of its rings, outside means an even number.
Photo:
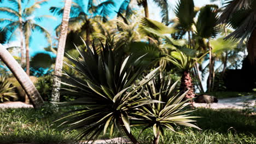
[{"label": "dark drooping palm fronds hanging in the top right corner", "polygon": [[[211,0],[212,2],[218,0]],[[229,34],[226,39],[245,40],[247,39],[247,51],[249,63],[253,68],[252,75],[256,80],[256,1],[253,0],[224,0],[224,10],[220,15],[219,23],[228,24],[234,32]]]}]

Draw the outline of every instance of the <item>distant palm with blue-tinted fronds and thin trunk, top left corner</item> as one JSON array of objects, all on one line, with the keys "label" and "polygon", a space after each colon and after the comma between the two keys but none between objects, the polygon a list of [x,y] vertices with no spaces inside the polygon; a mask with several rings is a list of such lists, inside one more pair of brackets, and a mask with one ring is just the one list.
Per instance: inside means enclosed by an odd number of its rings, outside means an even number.
[{"label": "distant palm with blue-tinted fronds and thin trunk, top left corner", "polygon": [[[31,33],[32,31],[39,31],[42,32],[45,36],[45,38],[48,40],[48,43],[51,45],[51,37],[48,31],[46,31],[45,28],[42,26],[39,26],[35,21],[42,21],[45,18],[50,18],[49,15],[42,15],[34,17],[35,11],[40,8],[41,5],[45,4],[48,0],[42,0],[35,2],[31,7],[22,9],[21,8],[21,0],[13,0],[11,1],[16,7],[18,7],[18,10],[11,9],[9,7],[0,7],[0,13],[5,13],[13,19],[0,19],[0,23],[7,23],[7,25],[3,28],[3,31],[10,33],[10,38],[13,37],[16,30],[19,29],[20,35],[21,35],[21,61],[24,61],[24,55],[23,53],[23,35],[25,35],[25,47],[26,47],[26,73],[27,75],[30,75],[30,49],[29,49],[29,43],[31,39]],[[8,41],[9,41],[8,40]]]}]

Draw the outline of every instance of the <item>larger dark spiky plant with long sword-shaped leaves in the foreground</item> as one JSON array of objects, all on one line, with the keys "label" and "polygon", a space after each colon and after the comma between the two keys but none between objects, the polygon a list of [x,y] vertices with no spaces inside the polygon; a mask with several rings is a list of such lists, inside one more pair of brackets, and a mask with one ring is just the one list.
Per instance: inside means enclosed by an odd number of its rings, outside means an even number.
[{"label": "larger dark spiky plant with long sword-shaped leaves in the foreground", "polygon": [[147,65],[140,64],[142,57],[134,59],[124,58],[123,53],[113,51],[108,43],[98,50],[92,45],[78,49],[79,58],[69,56],[75,65],[69,67],[83,75],[83,79],[63,74],[63,84],[78,88],[63,89],[62,92],[76,95],[78,98],[67,103],[78,105],[82,108],[66,113],[67,116],[58,121],[65,120],[62,124],[68,125],[68,130],[82,128],[77,140],[86,137],[87,140],[96,140],[102,132],[110,135],[114,129],[123,129],[133,143],[138,143],[130,131],[129,113],[137,111],[137,107],[154,103],[147,97],[139,97],[141,87],[155,76],[155,69],[136,82],[142,75]]}]

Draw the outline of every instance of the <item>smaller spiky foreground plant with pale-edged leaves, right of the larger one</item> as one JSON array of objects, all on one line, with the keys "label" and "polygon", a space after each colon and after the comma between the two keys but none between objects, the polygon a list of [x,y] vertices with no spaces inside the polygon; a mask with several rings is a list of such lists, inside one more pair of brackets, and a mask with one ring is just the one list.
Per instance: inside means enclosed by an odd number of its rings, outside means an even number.
[{"label": "smaller spiky foreground plant with pale-edged leaves, right of the larger one", "polygon": [[[178,82],[178,81],[177,81]],[[188,113],[192,112],[191,110],[184,109],[189,103],[190,99],[182,101],[187,92],[178,93],[174,91],[174,88],[177,84],[175,82],[171,85],[171,77],[157,76],[148,82],[144,87],[144,96],[149,97],[152,100],[162,101],[162,103],[150,103],[147,105],[141,106],[139,111],[133,112],[135,115],[132,118],[135,122],[132,123],[134,126],[144,126],[141,130],[143,133],[144,130],[153,127],[154,132],[154,144],[159,143],[160,135],[164,136],[164,129],[170,129],[174,132],[174,126],[183,125],[186,127],[193,127],[200,129],[190,122],[196,122],[191,118],[197,118],[189,116]],[[176,132],[178,133],[178,132]]]}]

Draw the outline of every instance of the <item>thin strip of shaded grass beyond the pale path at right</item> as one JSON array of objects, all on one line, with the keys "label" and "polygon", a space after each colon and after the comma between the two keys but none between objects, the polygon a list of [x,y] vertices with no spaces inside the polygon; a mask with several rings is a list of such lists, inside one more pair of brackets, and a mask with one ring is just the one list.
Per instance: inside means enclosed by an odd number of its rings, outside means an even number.
[{"label": "thin strip of shaded grass beyond the pale path at right", "polygon": [[225,98],[236,98],[236,97],[242,97],[247,95],[254,95],[256,97],[256,92],[209,92],[209,93],[203,93],[212,95],[218,99],[225,99]]}]

